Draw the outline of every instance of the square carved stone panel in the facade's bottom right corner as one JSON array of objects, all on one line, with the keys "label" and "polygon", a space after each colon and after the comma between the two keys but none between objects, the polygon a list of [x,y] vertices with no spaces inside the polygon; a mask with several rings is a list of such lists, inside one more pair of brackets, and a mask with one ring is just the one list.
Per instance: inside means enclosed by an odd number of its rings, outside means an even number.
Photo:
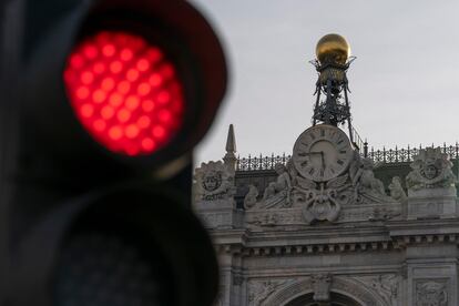
[{"label": "square carved stone panel in the facade's bottom right corner", "polygon": [[416,282],[416,306],[447,306],[448,305],[448,280]]}]

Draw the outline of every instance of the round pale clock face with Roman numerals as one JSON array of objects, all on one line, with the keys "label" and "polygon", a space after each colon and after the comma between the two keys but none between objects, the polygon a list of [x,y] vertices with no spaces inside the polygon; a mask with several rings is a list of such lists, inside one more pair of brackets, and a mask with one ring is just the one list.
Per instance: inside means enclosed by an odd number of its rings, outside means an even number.
[{"label": "round pale clock face with Roman numerals", "polygon": [[304,177],[325,182],[346,171],[353,154],[345,132],[333,125],[319,124],[299,135],[292,159]]}]

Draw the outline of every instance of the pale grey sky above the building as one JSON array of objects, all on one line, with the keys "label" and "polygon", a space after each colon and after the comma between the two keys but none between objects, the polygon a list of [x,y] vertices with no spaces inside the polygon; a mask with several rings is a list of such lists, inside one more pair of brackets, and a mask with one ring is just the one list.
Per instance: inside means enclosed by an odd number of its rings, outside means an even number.
[{"label": "pale grey sky above the building", "polygon": [[[353,123],[375,149],[459,140],[459,1],[194,0],[218,31],[230,90],[196,162],[292,153],[308,126],[327,33],[346,37]],[[345,128],[346,129],[346,128]]]}]

